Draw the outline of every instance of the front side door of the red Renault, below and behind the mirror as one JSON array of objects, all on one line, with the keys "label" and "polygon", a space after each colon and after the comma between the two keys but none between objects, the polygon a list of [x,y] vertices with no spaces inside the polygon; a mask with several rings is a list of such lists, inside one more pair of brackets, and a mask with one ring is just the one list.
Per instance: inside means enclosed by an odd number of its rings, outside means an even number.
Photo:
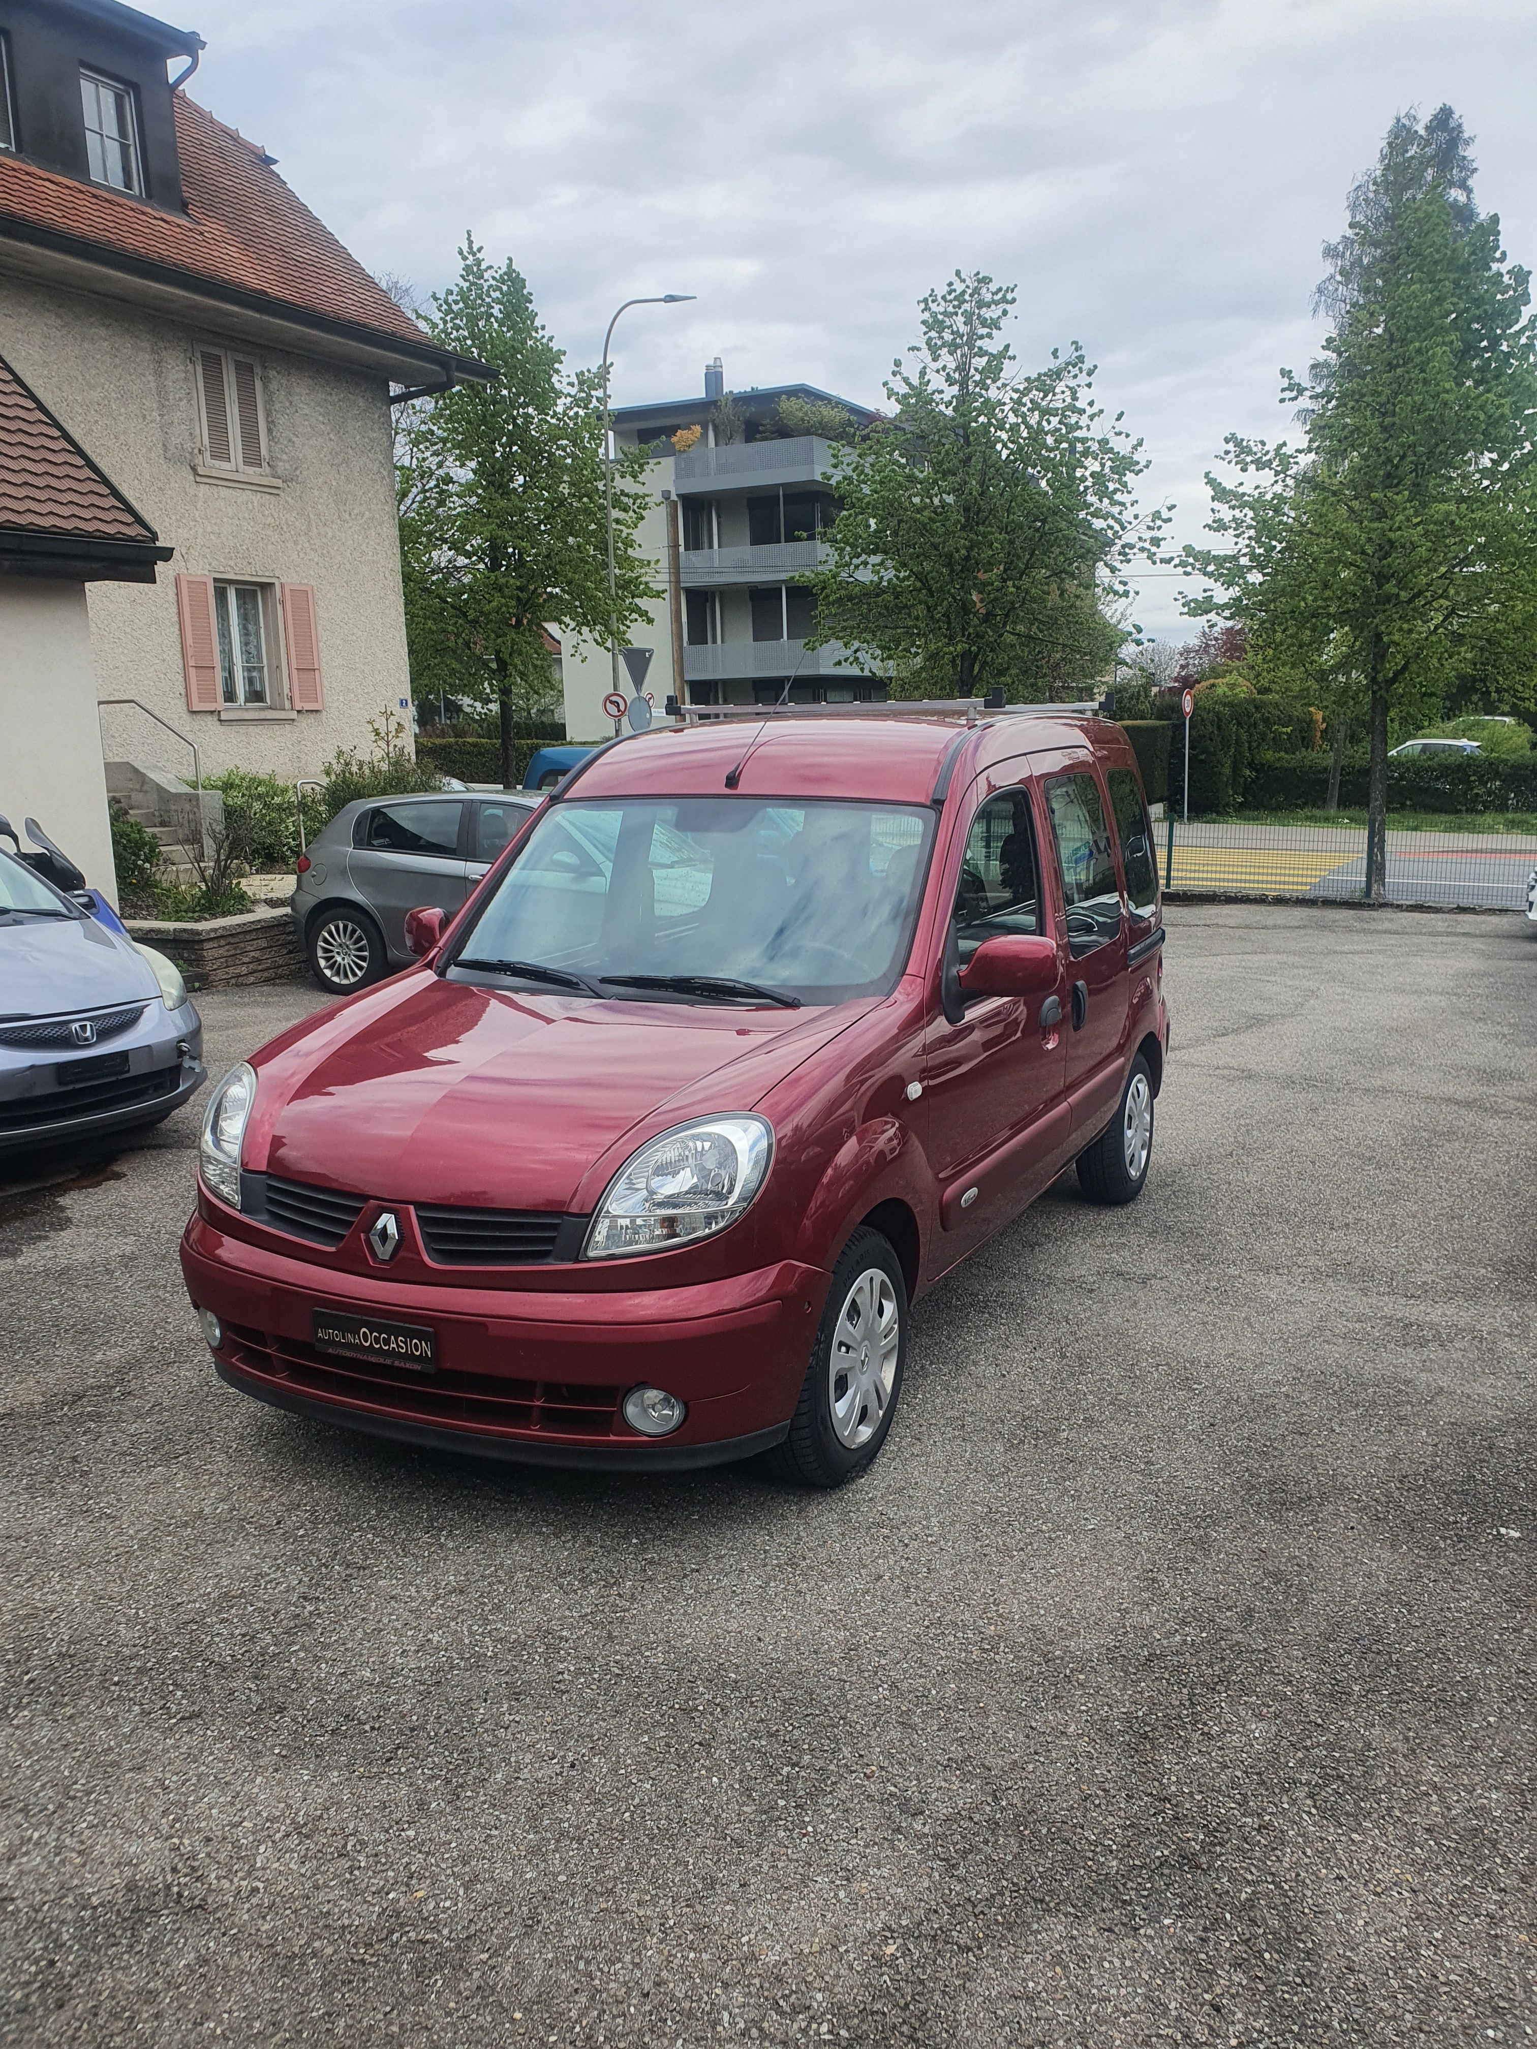
[{"label": "front side door of the red Renault, below and behind the mirror", "polygon": [[[1012,768],[1027,775],[1023,762]],[[971,818],[943,934],[943,977],[924,1037],[939,1223],[930,1240],[932,1272],[945,1272],[1023,1209],[1068,1156],[1066,949],[1064,975],[1049,998],[961,1002],[953,979],[984,938],[1051,932],[1029,785],[998,789],[998,777],[1006,775],[1010,766],[994,770],[969,799]]]}]

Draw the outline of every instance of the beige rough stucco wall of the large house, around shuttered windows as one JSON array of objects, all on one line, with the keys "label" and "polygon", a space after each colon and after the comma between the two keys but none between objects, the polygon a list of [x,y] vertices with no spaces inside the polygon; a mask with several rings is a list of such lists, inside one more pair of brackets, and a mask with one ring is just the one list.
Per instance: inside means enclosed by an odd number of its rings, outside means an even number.
[{"label": "beige rough stucco wall of the large house, around shuttered windows", "polygon": [[[279,492],[195,475],[195,342],[240,348],[260,363]],[[217,320],[195,330],[8,273],[0,273],[0,352],[176,549],[154,586],[90,586],[100,697],[137,697],[191,734],[205,775],[232,766],[314,775],[336,748],[367,752],[369,721],[385,709],[402,717],[410,680],[381,377],[246,346]],[[314,584],[324,711],[189,711],[176,572]],[[109,758],[189,772],[186,748],[139,713],[109,711],[105,734]]]}]

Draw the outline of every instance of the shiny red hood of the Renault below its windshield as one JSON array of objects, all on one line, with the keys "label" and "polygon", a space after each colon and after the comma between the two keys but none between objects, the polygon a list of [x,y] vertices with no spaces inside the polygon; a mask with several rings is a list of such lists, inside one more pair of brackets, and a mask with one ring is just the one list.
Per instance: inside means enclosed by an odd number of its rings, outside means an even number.
[{"label": "shiny red hood of the Renault below its windshield", "polygon": [[402,1203],[586,1213],[652,1131],[748,1111],[869,1002],[592,1002],[414,971],[256,1055],[252,1172]]}]

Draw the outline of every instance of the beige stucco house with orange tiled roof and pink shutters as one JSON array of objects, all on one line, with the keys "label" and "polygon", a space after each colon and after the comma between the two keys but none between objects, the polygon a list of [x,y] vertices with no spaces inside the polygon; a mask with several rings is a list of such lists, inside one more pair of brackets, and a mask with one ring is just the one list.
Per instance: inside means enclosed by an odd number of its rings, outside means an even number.
[{"label": "beige stucco house with orange tiled roof and pink shutters", "polygon": [[117,0],[0,0],[0,809],[66,846],[20,787],[49,607],[88,625],[96,764],[367,752],[410,699],[391,404],[490,375],[186,96],[201,49]]}]

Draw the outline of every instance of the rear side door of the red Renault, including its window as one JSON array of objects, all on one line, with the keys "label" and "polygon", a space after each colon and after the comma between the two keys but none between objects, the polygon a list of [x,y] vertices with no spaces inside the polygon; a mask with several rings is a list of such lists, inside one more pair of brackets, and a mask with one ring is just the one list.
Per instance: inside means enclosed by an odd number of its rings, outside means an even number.
[{"label": "rear side door of the red Renault, including its window", "polygon": [[1115,871],[1109,801],[1084,760],[1043,785],[1051,844],[1068,918],[1068,1104],[1076,1147],[1105,1129],[1119,1098],[1127,1031],[1129,973],[1125,906]]}]

